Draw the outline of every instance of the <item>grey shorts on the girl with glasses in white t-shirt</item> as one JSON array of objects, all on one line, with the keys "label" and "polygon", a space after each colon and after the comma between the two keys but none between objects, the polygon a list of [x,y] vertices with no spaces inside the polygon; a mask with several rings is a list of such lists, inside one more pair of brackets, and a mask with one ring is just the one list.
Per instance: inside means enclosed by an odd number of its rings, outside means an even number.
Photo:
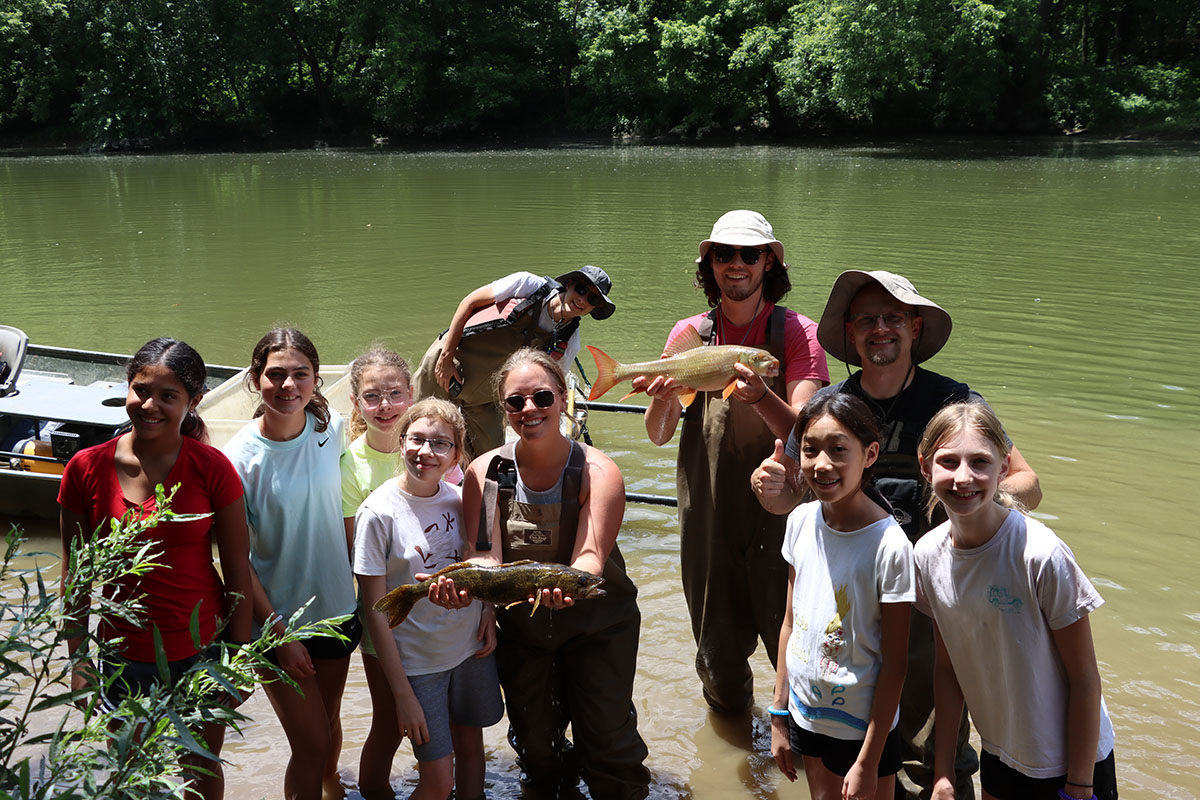
[{"label": "grey shorts on the girl with glasses in white t-shirt", "polygon": [[436,762],[454,752],[450,723],[486,728],[504,716],[500,678],[496,672],[496,654],[486,658],[469,656],[452,669],[427,675],[409,675],[416,702],[425,712],[430,740],[413,745],[419,762]]}]

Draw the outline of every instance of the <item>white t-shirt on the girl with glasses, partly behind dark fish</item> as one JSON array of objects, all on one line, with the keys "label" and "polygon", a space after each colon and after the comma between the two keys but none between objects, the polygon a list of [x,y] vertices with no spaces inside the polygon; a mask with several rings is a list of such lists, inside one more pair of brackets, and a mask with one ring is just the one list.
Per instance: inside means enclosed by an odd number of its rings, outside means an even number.
[{"label": "white t-shirt on the girl with glasses, partly behind dark fish", "polygon": [[[416,583],[418,572],[437,572],[466,557],[462,489],[445,481],[419,498],[388,481],[359,506],[354,521],[354,572],[388,577],[388,591]],[[484,606],[450,609],[418,600],[408,618],[391,628],[409,675],[444,672],[480,648],[475,638]]]}]

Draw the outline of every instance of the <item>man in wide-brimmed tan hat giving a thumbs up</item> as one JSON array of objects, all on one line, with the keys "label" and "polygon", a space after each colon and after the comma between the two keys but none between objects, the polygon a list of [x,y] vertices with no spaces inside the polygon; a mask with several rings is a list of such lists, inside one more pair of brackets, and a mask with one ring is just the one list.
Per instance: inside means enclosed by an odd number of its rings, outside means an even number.
[{"label": "man in wide-brimmed tan hat giving a thumbs up", "polygon": [[[966,384],[918,366],[942,349],[950,338],[950,315],[941,306],[920,296],[907,278],[882,270],[848,270],[838,276],[817,326],[817,338],[829,355],[862,367],[822,391],[854,395],[875,411],[882,434],[875,463],[876,487],[892,503],[896,521],[913,542],[941,522],[930,523],[922,512],[925,487],[917,444],[925,426],[948,403],[984,402]],[[767,510],[786,515],[796,507],[799,455],[793,433],[782,453],[776,447],[775,455],[754,471],[751,487]],[[1028,509],[1042,500],[1038,476],[1015,446],[1001,486]],[[932,787],[934,654],[932,624],[913,610],[908,673],[896,727],[905,759],[896,776],[896,798],[929,796]],[[968,733],[964,711],[955,762],[959,798],[974,796],[971,775],[979,768],[967,742]]]}]

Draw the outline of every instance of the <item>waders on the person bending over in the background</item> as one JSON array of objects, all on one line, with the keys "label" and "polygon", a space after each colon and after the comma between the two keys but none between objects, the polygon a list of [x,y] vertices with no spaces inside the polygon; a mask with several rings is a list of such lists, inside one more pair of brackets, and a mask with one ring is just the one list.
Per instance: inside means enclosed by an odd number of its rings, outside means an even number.
[{"label": "waders on the person bending over in the background", "polygon": [[547,278],[547,283],[528,297],[514,297],[470,315],[455,354],[455,366],[462,375],[462,391],[456,397],[442,389],[434,373],[445,331],[425,351],[416,368],[413,377],[414,399],[440,397],[462,409],[467,420],[467,450],[472,457],[504,444],[504,411],[496,404],[492,375],[505,359],[523,347],[562,353],[580,326],[578,319],[553,331],[538,326],[542,307],[556,288],[558,283]]}]

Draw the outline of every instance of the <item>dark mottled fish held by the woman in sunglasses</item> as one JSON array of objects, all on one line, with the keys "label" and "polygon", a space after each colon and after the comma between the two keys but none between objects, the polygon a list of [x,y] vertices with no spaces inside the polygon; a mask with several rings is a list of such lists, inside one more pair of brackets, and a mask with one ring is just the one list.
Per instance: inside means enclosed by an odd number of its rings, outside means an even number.
[{"label": "dark mottled fish held by the woman in sunglasses", "polygon": [[388,618],[390,627],[396,627],[408,618],[408,613],[413,610],[416,601],[428,597],[430,585],[437,583],[442,576],[454,581],[455,591],[466,589],[473,600],[500,606],[516,606],[534,597],[533,609],[529,612],[530,616],[541,604],[542,589],[562,589],[565,596],[575,600],[604,597],[607,594],[600,588],[604,578],[563,564],[526,560],[499,566],[484,566],[463,561],[438,570],[420,583],[406,583],[402,587],[396,587],[379,599],[374,606],[376,610]]}]

